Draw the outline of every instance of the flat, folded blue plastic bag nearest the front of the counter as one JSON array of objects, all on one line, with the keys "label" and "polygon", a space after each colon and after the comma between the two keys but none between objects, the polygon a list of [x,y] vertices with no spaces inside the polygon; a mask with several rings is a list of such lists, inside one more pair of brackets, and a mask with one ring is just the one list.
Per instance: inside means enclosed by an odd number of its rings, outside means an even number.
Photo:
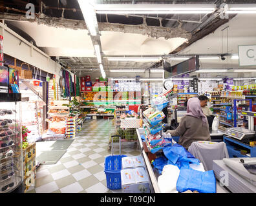
[{"label": "flat, folded blue plastic bag nearest the front of the counter", "polygon": [[213,171],[201,172],[195,169],[180,169],[176,183],[178,192],[187,190],[200,193],[216,193],[216,180]]}]

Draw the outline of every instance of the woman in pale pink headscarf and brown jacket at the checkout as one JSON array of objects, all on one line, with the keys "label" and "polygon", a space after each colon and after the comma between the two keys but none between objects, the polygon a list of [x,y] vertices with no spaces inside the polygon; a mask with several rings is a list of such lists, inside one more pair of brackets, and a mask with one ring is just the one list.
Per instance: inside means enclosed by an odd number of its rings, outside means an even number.
[{"label": "woman in pale pink headscarf and brown jacket at the checkout", "polygon": [[200,100],[196,97],[187,101],[187,113],[181,118],[175,130],[167,130],[172,136],[180,136],[178,144],[186,149],[195,141],[211,141],[206,115],[202,112]]}]

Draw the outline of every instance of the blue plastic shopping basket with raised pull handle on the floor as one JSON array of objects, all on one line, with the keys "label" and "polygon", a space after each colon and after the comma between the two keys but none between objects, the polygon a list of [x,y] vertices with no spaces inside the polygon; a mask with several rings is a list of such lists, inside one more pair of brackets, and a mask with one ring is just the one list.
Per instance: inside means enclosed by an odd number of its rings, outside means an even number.
[{"label": "blue plastic shopping basket with raised pull handle on the floor", "polygon": [[[119,155],[113,155],[113,137],[119,136]],[[105,175],[107,181],[107,188],[109,189],[121,189],[121,169],[122,158],[126,155],[121,155],[121,136],[112,135],[111,156],[105,158]]]}]

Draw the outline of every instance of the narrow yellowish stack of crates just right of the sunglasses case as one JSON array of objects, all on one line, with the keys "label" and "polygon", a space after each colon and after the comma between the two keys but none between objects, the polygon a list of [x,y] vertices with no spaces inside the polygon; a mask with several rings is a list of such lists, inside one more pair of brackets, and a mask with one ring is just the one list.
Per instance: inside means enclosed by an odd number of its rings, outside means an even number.
[{"label": "narrow yellowish stack of crates just right of the sunglasses case", "polygon": [[25,192],[36,182],[36,143],[29,144],[23,149],[23,175]]}]

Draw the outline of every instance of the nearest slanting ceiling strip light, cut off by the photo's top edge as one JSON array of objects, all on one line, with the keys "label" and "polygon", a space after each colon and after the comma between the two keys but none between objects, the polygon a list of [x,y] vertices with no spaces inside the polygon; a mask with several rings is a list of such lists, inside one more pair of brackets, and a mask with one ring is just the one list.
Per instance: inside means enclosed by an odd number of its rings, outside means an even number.
[{"label": "nearest slanting ceiling strip light, cut off by the photo's top edge", "polygon": [[98,21],[96,17],[95,10],[89,1],[78,0],[81,11],[83,13],[83,18],[87,26],[87,30],[92,36],[97,35],[96,28],[98,28]]}]

